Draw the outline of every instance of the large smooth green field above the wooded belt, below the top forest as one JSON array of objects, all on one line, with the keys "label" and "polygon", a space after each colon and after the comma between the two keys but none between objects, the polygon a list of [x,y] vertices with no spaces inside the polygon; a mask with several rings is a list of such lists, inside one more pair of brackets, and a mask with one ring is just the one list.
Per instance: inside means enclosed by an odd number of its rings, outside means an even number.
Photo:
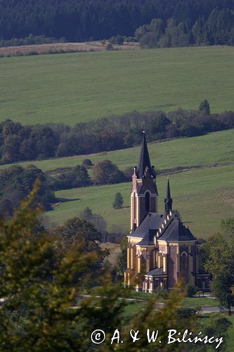
[{"label": "large smooth green field above the wooded belt, below the top forest", "polygon": [[75,125],[133,110],[233,110],[234,48],[209,46],[1,58],[1,120]]}]

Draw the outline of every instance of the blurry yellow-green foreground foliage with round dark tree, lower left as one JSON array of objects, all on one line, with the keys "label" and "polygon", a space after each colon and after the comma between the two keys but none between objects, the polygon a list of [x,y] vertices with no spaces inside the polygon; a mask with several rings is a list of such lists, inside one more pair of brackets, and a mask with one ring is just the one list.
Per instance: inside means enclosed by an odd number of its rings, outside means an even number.
[{"label": "blurry yellow-green foreground foliage with round dark tree, lower left", "polygon": [[[32,208],[37,191],[38,183],[11,222],[0,222],[0,295],[5,298],[0,310],[2,351],[88,351],[93,348],[90,336],[95,329],[105,330],[107,339],[101,348],[110,351],[116,328],[124,337],[119,351],[143,351],[146,334],[133,344],[129,329],[145,332],[148,327],[157,327],[160,339],[166,341],[171,326],[193,328],[192,320],[181,321],[176,315],[181,303],[179,289],[170,294],[162,311],[155,310],[152,296],[145,309],[127,320],[123,315],[126,302],[119,297],[126,297],[128,290],[122,286],[99,279],[102,287],[89,298],[81,296],[82,287],[98,279],[96,270],[99,275],[103,273],[96,268],[100,259],[98,234],[78,218],[68,221],[57,233],[38,231],[40,210]],[[159,348],[157,339],[148,351]],[[181,351],[181,346],[174,344],[174,351]]]}]

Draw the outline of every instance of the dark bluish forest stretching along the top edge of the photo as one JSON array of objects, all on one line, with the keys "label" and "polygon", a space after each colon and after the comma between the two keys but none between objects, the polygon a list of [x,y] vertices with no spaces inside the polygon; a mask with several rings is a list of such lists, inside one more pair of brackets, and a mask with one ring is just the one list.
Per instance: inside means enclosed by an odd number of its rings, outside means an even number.
[{"label": "dark bluish forest stretching along the top edge of the photo", "polygon": [[[33,34],[82,42],[133,36],[153,18],[160,18],[164,27],[172,18],[191,34],[195,23],[202,26],[215,8],[231,13],[233,7],[233,0],[0,0],[0,39]],[[212,16],[209,21],[214,31],[216,20]]]}]

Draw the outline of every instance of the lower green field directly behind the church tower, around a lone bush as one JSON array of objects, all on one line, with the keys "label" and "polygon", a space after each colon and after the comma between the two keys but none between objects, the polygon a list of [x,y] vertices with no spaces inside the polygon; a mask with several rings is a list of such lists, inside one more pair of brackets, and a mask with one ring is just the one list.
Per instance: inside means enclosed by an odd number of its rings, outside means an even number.
[{"label": "lower green field directly behind the church tower, around a lone bush", "polygon": [[[180,211],[183,221],[195,236],[207,237],[218,229],[222,218],[233,216],[233,180],[233,165],[191,170],[170,176],[174,208]],[[166,183],[167,177],[157,178],[160,211],[164,207]],[[124,196],[125,208],[114,210],[112,201],[117,191]],[[99,213],[105,218],[108,230],[127,231],[130,192],[130,182],[57,191],[56,196],[62,203],[58,203],[47,215],[51,222],[61,224],[89,206],[93,213]]]}]

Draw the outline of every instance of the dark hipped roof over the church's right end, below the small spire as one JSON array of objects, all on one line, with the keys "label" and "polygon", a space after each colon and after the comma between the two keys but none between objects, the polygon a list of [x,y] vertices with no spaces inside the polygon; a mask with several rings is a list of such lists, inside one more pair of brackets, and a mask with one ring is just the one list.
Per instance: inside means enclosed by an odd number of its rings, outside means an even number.
[{"label": "dark hipped roof over the church's right end, below the small spire", "polygon": [[173,219],[162,233],[162,236],[158,239],[164,241],[193,241],[195,237],[192,232],[183,225],[181,220]]}]

